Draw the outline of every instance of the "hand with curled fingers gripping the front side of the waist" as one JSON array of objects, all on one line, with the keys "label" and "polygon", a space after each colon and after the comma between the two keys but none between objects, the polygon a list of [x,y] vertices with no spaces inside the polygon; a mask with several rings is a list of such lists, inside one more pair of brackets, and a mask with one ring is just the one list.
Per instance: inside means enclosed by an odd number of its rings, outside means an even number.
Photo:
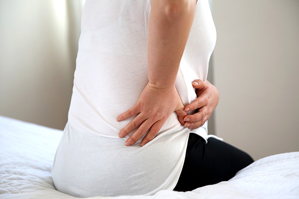
[{"label": "hand with curled fingers gripping the front side of the waist", "polygon": [[180,123],[189,129],[202,126],[211,116],[219,101],[219,93],[215,86],[206,81],[195,80],[192,82],[197,99],[185,106],[185,111],[198,109],[192,115],[178,117]]}]

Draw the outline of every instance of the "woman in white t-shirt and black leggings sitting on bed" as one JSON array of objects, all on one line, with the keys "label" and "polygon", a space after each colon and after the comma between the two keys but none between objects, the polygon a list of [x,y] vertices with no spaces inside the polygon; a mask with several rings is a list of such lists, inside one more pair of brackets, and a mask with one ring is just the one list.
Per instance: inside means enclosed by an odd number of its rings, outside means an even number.
[{"label": "woman in white t-shirt and black leggings sitting on bed", "polygon": [[[207,0],[87,0],[53,164],[57,190],[76,197],[188,191],[250,164],[203,123],[218,102],[203,83],[215,40]],[[198,99],[194,81],[205,88]],[[213,102],[199,104],[201,92]]]}]

